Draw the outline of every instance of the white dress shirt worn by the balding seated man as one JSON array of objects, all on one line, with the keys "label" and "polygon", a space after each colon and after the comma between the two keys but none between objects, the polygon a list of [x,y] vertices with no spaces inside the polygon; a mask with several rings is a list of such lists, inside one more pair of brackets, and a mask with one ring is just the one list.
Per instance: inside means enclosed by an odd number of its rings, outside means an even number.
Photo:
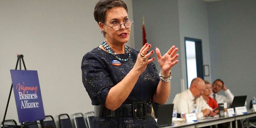
[{"label": "white dress shirt worn by the balding seated man", "polygon": [[[195,98],[193,94],[188,89],[179,94],[176,94],[172,103],[174,104],[178,113],[181,113],[181,112],[193,113],[194,99]],[[202,112],[204,109],[207,108],[209,110],[212,110],[212,108],[205,102],[202,96],[196,99],[196,105],[199,111],[197,114],[198,118],[204,117],[204,114]]]}]

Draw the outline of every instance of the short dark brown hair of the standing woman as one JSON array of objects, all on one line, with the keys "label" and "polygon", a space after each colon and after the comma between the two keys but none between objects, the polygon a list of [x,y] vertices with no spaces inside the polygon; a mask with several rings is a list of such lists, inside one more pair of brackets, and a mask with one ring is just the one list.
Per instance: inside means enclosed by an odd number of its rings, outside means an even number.
[{"label": "short dark brown hair of the standing woman", "polygon": [[106,13],[114,7],[124,7],[128,13],[126,4],[122,0],[100,0],[94,7],[94,19],[98,22],[105,22]]}]

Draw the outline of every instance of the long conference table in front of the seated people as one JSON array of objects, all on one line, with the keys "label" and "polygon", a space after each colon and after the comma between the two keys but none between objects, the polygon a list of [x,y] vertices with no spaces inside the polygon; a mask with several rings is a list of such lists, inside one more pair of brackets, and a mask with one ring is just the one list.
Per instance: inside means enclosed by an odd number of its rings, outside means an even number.
[{"label": "long conference table in front of the seated people", "polygon": [[198,120],[198,122],[187,123],[183,122],[174,122],[173,126],[166,126],[164,128],[200,128],[205,126],[212,126],[216,124],[222,124],[225,122],[230,122],[230,128],[232,128],[232,121],[235,121],[236,128],[238,128],[237,120],[246,119],[256,116],[256,112],[248,111],[247,114],[236,115],[231,117],[222,117],[222,118],[205,118],[204,120]]}]

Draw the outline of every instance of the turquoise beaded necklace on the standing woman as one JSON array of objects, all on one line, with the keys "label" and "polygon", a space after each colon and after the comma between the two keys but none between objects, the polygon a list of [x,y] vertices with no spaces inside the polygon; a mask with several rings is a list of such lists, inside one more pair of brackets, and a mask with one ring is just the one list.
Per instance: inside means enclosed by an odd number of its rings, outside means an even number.
[{"label": "turquoise beaded necklace on the standing woman", "polygon": [[106,40],[105,40],[104,42],[102,42],[101,45],[103,46],[103,48],[104,48],[108,53],[112,54],[112,55],[113,55],[116,59],[118,59],[118,60],[121,60],[121,61],[125,61],[125,62],[126,62],[126,61],[128,61],[129,58],[131,57],[130,49],[129,49],[126,45],[124,46],[124,51],[125,51],[125,53],[128,53],[128,54],[129,54],[128,58],[126,58],[126,59],[122,59],[122,58],[118,57],[118,56],[116,55],[116,52],[110,48],[110,46],[108,45],[108,43],[106,42]]}]

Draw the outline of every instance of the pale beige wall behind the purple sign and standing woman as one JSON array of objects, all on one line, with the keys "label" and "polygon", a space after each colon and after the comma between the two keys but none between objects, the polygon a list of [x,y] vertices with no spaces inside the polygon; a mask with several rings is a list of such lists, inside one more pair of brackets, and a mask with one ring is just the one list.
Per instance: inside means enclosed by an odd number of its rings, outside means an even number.
[{"label": "pale beige wall behind the purple sign and standing woman", "polygon": [[[46,115],[92,111],[82,84],[81,61],[104,38],[94,20],[98,0],[0,0],[0,120],[11,86],[16,54],[37,70]],[[124,0],[132,19],[132,1]],[[133,30],[132,30],[133,33]],[[133,34],[128,46],[134,47]],[[23,66],[22,66],[23,68]],[[18,121],[12,92],[6,119]]]}]

